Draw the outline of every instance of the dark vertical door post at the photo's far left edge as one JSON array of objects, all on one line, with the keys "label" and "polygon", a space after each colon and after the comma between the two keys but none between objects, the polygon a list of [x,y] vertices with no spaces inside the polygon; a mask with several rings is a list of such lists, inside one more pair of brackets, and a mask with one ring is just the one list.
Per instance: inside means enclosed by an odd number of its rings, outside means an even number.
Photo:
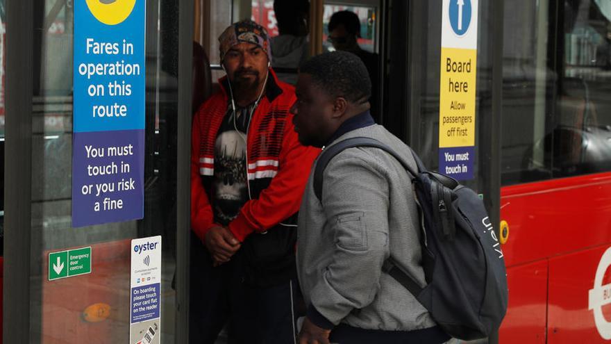
[{"label": "dark vertical door post at the photo's far left edge", "polygon": [[6,1],[3,343],[31,342],[33,38],[33,1]]}]

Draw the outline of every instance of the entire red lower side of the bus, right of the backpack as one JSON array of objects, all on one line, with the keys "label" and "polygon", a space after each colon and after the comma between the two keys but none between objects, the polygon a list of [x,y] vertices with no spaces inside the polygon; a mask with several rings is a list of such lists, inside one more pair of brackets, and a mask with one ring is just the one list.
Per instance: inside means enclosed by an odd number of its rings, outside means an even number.
[{"label": "entire red lower side of the bus, right of the backpack", "polygon": [[[589,294],[603,269],[599,293],[611,302],[611,273],[601,266],[608,249],[611,257],[611,173],[503,187],[501,219],[510,234],[500,343],[604,343]],[[611,319],[611,305],[596,306]]]}]

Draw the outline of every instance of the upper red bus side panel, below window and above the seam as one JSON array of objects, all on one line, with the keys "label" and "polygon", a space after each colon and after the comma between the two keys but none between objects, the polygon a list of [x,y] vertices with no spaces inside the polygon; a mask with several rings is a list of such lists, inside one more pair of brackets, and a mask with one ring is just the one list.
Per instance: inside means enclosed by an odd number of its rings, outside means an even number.
[{"label": "upper red bus side panel, below window and above the seam", "polygon": [[611,173],[501,188],[508,267],[611,243]]}]

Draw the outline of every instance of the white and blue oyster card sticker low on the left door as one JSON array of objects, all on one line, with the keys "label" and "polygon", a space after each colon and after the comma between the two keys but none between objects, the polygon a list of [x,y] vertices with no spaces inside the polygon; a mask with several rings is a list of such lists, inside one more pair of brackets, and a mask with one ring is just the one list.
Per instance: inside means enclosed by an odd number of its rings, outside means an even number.
[{"label": "white and blue oyster card sticker low on the left door", "polygon": [[160,343],[161,236],[131,240],[130,343]]}]

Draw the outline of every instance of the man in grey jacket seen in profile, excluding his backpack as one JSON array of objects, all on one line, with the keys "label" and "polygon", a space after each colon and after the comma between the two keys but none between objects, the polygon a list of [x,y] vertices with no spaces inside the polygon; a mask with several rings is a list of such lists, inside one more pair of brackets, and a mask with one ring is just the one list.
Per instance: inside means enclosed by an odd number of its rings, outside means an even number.
[{"label": "man in grey jacket seen in profile, excluding his backpack", "polygon": [[[357,56],[335,51],[308,60],[291,108],[299,141],[330,147],[355,136],[375,138],[416,169],[408,147],[369,115],[370,93]],[[299,343],[447,341],[428,311],[382,271],[392,255],[425,284],[419,215],[399,161],[376,148],[345,149],[324,170],[321,201],[312,179],[299,211],[297,270],[308,306]]]}]

